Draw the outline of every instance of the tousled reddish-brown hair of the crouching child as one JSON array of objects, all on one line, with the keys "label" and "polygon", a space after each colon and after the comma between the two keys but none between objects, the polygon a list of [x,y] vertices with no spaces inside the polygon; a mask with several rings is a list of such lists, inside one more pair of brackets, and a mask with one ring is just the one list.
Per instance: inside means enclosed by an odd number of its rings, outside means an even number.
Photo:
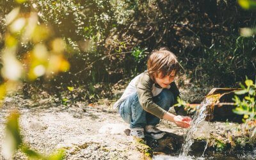
[{"label": "tousled reddish-brown hair of the crouching child", "polygon": [[177,57],[166,47],[152,51],[147,61],[148,74],[153,81],[159,73],[161,77],[170,76],[173,71],[179,72],[179,68]]}]

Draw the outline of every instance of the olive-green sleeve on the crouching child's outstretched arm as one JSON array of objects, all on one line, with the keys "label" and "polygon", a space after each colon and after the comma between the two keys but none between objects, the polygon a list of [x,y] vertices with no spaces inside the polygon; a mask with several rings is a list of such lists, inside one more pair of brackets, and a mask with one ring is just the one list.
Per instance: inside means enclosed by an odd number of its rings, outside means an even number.
[{"label": "olive-green sleeve on the crouching child's outstretched arm", "polygon": [[138,98],[142,108],[151,113],[152,115],[157,116],[158,118],[163,118],[163,115],[166,113],[163,108],[159,107],[156,103],[153,102],[152,95],[152,79],[150,79],[147,72],[141,75],[136,83],[136,90],[138,93]]}]

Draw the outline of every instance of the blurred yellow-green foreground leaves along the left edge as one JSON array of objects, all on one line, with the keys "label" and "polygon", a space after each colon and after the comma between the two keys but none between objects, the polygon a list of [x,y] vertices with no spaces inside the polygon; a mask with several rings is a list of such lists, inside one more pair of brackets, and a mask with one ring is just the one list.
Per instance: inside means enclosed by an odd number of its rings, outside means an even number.
[{"label": "blurred yellow-green foreground leaves along the left edge", "polygon": [[[69,68],[69,63],[63,56],[65,42],[52,36],[49,26],[38,22],[36,12],[22,10],[19,3],[25,1],[17,0],[18,6],[12,8],[4,19],[7,29],[4,46],[1,47],[1,100],[8,92],[22,86],[23,81],[35,81],[38,77],[51,78]],[[18,120],[19,113],[12,113],[7,118],[3,143],[5,159],[12,158],[19,149],[29,159],[63,159],[63,150],[52,156],[44,156],[31,150],[22,141]]]}]

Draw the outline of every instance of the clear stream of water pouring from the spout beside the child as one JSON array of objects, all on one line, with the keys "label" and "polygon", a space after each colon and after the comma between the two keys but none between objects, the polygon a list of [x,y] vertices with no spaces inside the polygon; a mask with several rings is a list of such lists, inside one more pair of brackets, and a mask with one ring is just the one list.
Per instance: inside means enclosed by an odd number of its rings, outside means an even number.
[{"label": "clear stream of water pouring from the spout beside the child", "polygon": [[[202,124],[202,122],[205,122],[205,118],[207,116],[207,107],[211,106],[211,104],[213,104],[214,102],[216,102],[216,99],[218,99],[218,95],[211,95],[209,97],[206,97],[206,99],[200,104],[200,109],[198,109],[198,111],[196,111],[195,115],[193,116],[193,120],[191,122],[191,125],[188,129],[188,131],[186,132],[186,136],[184,137],[184,143],[182,144],[182,148],[181,148],[181,152],[179,154],[179,157],[186,157],[188,156],[188,152],[190,150],[191,145],[194,142],[193,139],[193,135],[195,134],[195,132],[198,130],[198,127],[200,124]],[[207,129],[204,129],[205,131]],[[210,129],[207,130],[207,137],[210,134]],[[208,140],[207,140],[208,143]],[[207,145],[205,145],[204,148],[204,152],[207,148]],[[203,155],[204,155],[203,152]]]}]

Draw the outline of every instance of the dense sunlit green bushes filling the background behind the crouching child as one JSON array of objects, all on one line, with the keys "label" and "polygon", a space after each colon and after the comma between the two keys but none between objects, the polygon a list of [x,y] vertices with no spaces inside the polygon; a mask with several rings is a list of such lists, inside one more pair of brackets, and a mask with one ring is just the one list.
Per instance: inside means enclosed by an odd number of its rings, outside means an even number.
[{"label": "dense sunlit green bushes filling the background behind the crouching child", "polygon": [[[256,14],[236,0],[33,0],[19,5],[24,15],[37,12],[39,21],[67,43],[70,70],[50,83],[39,77],[38,83],[83,85],[84,98],[92,101],[99,95],[90,95],[145,70],[147,56],[159,47],[178,56],[191,83],[238,87],[246,76],[255,79],[255,36],[240,36],[239,29],[253,28]],[[4,15],[15,6],[12,0],[0,2],[1,48]],[[31,46],[21,48],[19,54]]]}]

